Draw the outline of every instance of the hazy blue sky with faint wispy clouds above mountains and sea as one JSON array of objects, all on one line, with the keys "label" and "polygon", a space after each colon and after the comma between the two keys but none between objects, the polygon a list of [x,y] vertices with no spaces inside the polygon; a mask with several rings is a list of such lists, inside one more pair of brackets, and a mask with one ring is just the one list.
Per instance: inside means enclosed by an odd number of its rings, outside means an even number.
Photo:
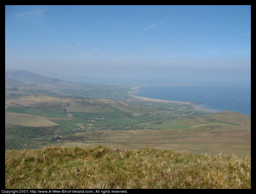
[{"label": "hazy blue sky with faint wispy clouds above mountains and sea", "polygon": [[251,83],[250,5],[5,5],[5,70]]}]

